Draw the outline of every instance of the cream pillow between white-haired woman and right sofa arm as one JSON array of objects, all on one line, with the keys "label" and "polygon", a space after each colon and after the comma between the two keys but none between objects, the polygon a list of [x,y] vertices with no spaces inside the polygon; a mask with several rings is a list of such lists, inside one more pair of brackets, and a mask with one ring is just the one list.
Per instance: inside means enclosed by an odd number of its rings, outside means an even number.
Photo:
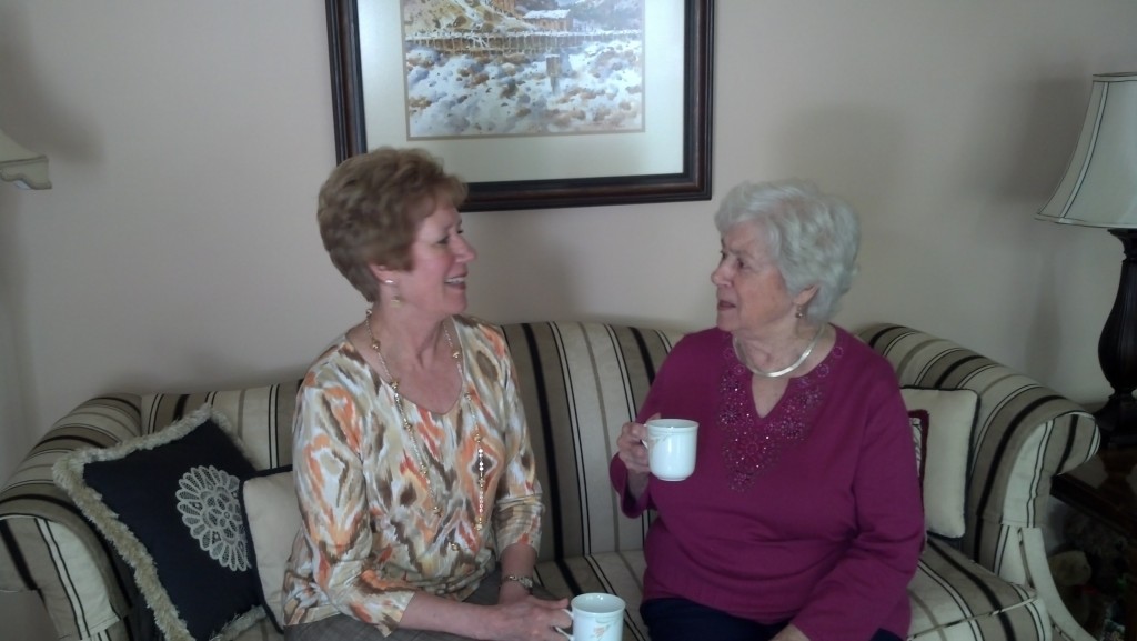
[{"label": "cream pillow between white-haired woman and right sofa arm", "polygon": [[958,539],[966,532],[971,432],[979,416],[979,394],[971,389],[901,389],[908,409],[928,532]]}]

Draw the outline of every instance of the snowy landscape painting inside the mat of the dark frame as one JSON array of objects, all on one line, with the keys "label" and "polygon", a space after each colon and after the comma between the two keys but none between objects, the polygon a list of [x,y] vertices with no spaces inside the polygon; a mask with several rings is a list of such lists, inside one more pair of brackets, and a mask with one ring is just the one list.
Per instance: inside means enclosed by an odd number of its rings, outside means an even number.
[{"label": "snowy landscape painting inside the mat of the dark frame", "polygon": [[407,139],[644,130],[645,0],[401,0]]}]

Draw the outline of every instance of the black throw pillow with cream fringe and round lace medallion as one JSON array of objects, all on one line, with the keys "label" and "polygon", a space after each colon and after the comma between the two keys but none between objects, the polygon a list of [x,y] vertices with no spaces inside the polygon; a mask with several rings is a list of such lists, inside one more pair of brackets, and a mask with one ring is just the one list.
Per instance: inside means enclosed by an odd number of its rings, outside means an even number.
[{"label": "black throw pillow with cream fringe and round lace medallion", "polygon": [[60,458],[56,483],[134,570],[167,641],[226,640],[263,615],[238,492],[256,470],[204,405],[153,434]]}]

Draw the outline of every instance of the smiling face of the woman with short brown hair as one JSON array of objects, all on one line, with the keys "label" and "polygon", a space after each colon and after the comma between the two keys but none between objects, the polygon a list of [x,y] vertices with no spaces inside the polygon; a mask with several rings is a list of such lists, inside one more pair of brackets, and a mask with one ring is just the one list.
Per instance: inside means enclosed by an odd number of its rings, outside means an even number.
[{"label": "smiling face of the woman with short brown hair", "polygon": [[405,309],[441,319],[466,310],[466,276],[476,257],[462,236],[462,215],[448,200],[438,198],[410,245],[410,270],[375,268],[375,276],[380,281],[395,280]]}]

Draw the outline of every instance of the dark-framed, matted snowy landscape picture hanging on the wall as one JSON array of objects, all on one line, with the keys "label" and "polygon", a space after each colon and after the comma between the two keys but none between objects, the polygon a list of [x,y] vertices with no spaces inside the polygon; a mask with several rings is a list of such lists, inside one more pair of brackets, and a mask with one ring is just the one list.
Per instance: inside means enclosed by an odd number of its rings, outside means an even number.
[{"label": "dark-framed, matted snowy landscape picture hanging on the wall", "polygon": [[465,211],[711,198],[714,0],[326,0],[338,161],[421,147]]}]

